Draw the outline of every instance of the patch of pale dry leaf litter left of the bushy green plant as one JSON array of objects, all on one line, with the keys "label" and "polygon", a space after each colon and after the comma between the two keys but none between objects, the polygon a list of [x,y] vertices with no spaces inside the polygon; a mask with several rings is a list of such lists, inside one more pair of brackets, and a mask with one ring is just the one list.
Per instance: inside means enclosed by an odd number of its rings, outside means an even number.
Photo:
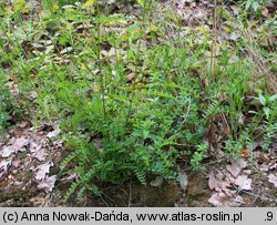
[{"label": "patch of pale dry leaf litter left of the bushy green plant", "polygon": [[[53,139],[59,135],[60,129],[43,123],[39,129],[30,126],[28,121],[19,122],[9,132],[11,135],[1,140],[0,184],[1,182],[3,184],[0,185],[1,192],[3,190],[12,192],[16,188],[18,193],[23,193],[29,190],[35,195],[37,188],[48,195],[54,191],[59,177],[57,174],[51,174],[51,167],[61,161],[60,150],[63,141]],[[69,182],[75,176],[72,174],[68,177]],[[37,187],[33,186],[33,181]],[[8,201],[7,197],[9,194],[1,196],[0,202]]]}]

